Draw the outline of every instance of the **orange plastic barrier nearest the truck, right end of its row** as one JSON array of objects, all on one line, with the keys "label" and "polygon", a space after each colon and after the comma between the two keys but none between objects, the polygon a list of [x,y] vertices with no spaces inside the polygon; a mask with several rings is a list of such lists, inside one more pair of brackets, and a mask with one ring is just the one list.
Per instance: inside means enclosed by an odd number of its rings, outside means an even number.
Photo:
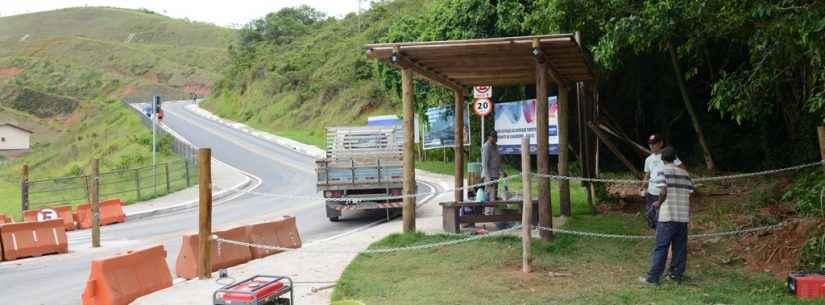
[{"label": "orange plastic barrier nearest the truck, right end of its row", "polygon": [[[281,248],[300,248],[301,236],[295,224],[295,217],[284,216],[282,220],[258,223],[247,226],[249,240],[253,244]],[[266,257],[280,251],[250,247],[255,259]]]}]

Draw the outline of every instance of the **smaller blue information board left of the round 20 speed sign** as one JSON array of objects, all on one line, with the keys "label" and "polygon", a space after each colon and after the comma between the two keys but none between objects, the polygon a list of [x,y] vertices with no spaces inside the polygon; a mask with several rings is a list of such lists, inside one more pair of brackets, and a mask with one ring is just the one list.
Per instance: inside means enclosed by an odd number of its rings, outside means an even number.
[{"label": "smaller blue information board left of the round 20 speed sign", "polygon": [[[452,147],[455,144],[455,110],[453,107],[427,109],[424,149]],[[470,115],[464,111],[464,145],[470,145]]]}]

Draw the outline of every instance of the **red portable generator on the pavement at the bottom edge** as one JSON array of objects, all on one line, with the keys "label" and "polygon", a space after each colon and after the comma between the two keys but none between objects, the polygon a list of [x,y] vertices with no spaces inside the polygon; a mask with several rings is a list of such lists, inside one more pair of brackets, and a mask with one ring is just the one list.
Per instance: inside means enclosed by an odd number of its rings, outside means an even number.
[{"label": "red portable generator on the pavement at the bottom edge", "polygon": [[212,299],[214,305],[293,305],[292,288],[292,279],[286,276],[256,275],[218,289]]}]

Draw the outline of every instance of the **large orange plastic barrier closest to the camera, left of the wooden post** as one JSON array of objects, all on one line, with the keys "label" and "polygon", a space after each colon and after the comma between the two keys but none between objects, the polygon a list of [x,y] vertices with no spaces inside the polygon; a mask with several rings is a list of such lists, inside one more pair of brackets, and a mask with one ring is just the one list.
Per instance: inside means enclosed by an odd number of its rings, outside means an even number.
[{"label": "large orange plastic barrier closest to the camera, left of the wooden post", "polygon": [[172,287],[162,245],[92,261],[83,290],[83,305],[126,305],[152,292]]}]

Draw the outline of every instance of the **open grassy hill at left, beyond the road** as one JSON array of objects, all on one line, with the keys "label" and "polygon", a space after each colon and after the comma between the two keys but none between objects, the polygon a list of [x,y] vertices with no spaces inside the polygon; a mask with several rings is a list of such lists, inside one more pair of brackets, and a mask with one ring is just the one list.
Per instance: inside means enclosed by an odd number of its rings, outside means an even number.
[{"label": "open grassy hill at left, beyond the road", "polygon": [[[119,101],[208,95],[235,31],[145,10],[68,8],[0,18],[0,120],[35,131],[32,153],[0,167],[0,213],[19,216],[33,178],[151,162],[148,129]],[[161,160],[176,157],[161,148]]]}]

